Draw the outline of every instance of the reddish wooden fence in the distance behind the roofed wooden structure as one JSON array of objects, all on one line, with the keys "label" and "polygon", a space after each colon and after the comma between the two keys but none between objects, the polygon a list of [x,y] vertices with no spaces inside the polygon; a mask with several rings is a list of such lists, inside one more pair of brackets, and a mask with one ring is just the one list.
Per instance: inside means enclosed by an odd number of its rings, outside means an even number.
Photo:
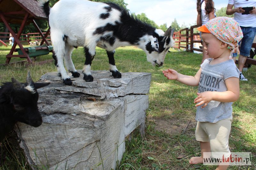
[{"label": "reddish wooden fence in the distance behind the roofed wooden structure", "polygon": [[[45,33],[43,33],[43,34],[45,34]],[[0,32],[0,40],[3,41],[7,45],[9,44],[9,38],[10,38],[10,33]],[[46,40],[51,41],[50,35],[47,36]],[[40,35],[40,33],[21,34],[20,42],[26,42],[26,44],[29,45],[30,41],[42,41],[42,36]]]}]

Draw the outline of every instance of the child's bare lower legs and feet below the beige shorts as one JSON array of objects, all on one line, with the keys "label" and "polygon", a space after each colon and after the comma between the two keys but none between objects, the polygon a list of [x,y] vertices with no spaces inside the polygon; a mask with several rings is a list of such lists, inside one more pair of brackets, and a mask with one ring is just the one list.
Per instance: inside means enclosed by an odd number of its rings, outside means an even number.
[{"label": "child's bare lower legs and feet below the beige shorts", "polygon": [[[201,148],[201,156],[192,157],[189,160],[190,164],[202,164],[204,156],[207,157],[206,155],[204,155],[204,152],[211,152],[210,142],[200,142],[200,148]],[[210,155],[208,157],[210,157]],[[226,169],[228,169],[228,165],[219,165],[215,170],[226,170]]]}]

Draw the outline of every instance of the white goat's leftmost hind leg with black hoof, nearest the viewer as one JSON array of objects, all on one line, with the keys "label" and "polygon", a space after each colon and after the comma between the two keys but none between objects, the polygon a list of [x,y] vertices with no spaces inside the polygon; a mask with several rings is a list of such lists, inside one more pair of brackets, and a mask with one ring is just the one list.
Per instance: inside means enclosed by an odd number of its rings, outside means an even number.
[{"label": "white goat's leftmost hind leg with black hoof, nearest the viewer", "polygon": [[64,36],[60,34],[58,30],[51,30],[51,33],[52,45],[54,50],[53,57],[57,58],[56,66],[58,69],[58,74],[61,77],[61,79],[63,79],[65,85],[72,85],[72,81],[68,76],[63,64],[63,57],[65,55],[65,41],[63,38]]}]

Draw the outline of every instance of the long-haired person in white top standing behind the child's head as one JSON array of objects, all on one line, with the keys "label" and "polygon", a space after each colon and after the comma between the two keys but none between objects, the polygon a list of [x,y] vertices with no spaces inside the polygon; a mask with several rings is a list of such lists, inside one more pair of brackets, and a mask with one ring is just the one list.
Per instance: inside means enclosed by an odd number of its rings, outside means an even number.
[{"label": "long-haired person in white top standing behind the child's head", "polygon": [[[210,19],[215,18],[214,12],[216,11],[216,9],[214,8],[213,0],[197,0],[196,6],[197,6],[197,18],[196,18],[197,25],[203,26]],[[200,32],[200,38],[202,40],[201,32]],[[203,45],[203,58],[201,63],[203,63],[206,58],[209,58],[204,51],[205,43],[202,42],[202,45]]]}]

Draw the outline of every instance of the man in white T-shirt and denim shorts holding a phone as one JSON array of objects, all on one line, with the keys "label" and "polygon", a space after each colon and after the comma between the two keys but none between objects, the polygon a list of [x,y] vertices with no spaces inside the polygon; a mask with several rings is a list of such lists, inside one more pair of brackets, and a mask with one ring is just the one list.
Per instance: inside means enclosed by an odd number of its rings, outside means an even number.
[{"label": "man in white T-shirt and denim shorts holding a phone", "polygon": [[[242,74],[244,63],[252,47],[253,39],[256,34],[256,0],[228,0],[227,15],[234,14],[234,19],[239,23],[244,38],[240,41],[240,55],[238,58],[238,69],[240,71],[239,79],[247,81]],[[233,8],[234,7],[234,8]],[[233,8],[233,9],[232,9]],[[233,54],[233,60],[236,61],[237,54]]]}]

